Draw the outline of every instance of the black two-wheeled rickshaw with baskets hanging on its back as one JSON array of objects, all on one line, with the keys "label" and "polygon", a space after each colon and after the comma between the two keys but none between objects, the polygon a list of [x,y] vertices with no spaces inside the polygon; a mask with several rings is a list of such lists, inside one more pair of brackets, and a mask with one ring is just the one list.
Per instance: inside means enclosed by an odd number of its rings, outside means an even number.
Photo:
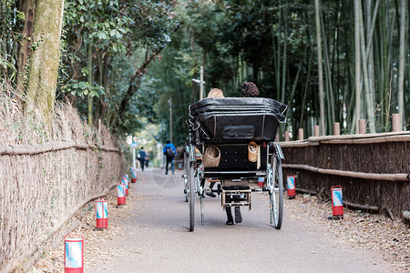
[{"label": "black two-wheeled rickshaw with baskets hanging on its back", "polygon": [[[282,227],[283,155],[274,141],[279,123],[285,122],[286,108],[264,97],[213,97],[190,105],[183,175],[190,231],[194,230],[196,197],[203,225],[203,194],[210,192],[221,196],[223,209],[251,209],[251,193],[268,192],[270,223],[276,229]],[[218,179],[220,184],[210,189],[206,179]]]}]

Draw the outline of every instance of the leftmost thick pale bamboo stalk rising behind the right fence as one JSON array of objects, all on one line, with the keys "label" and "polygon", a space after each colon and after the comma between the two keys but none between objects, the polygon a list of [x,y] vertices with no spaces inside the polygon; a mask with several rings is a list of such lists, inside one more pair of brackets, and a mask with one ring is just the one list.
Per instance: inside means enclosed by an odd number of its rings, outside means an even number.
[{"label": "leftmost thick pale bamboo stalk rising behind the right fence", "polygon": [[323,92],[323,65],[322,65],[322,39],[321,39],[321,19],[320,19],[320,2],[314,0],[314,14],[316,22],[316,38],[317,38],[317,66],[319,72],[319,107],[322,136],[325,135],[324,127],[324,92]]}]

